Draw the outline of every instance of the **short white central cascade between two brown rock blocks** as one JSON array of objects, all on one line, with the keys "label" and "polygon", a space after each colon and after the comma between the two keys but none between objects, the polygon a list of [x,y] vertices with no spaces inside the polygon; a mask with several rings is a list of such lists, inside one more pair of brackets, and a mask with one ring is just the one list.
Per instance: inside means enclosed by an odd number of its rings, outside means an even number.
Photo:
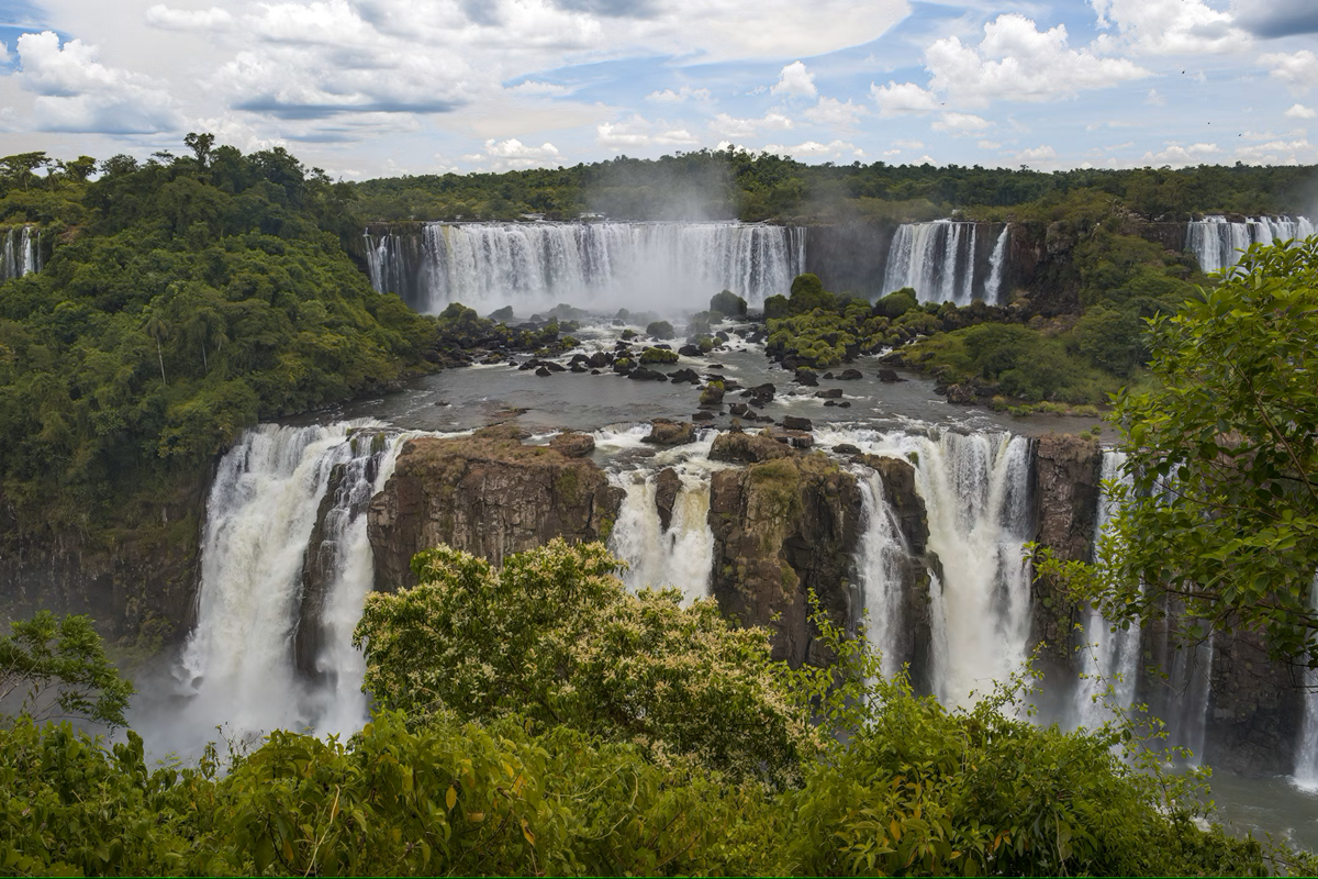
[{"label": "short white central cascade between two brown rock blocks", "polygon": [[623,582],[631,592],[646,586],[677,586],[685,602],[706,598],[714,565],[714,534],[709,528],[708,474],[677,470],[681,485],[668,528],[659,518],[656,473],[613,473],[610,481],[626,493],[609,550],[627,563]]}]

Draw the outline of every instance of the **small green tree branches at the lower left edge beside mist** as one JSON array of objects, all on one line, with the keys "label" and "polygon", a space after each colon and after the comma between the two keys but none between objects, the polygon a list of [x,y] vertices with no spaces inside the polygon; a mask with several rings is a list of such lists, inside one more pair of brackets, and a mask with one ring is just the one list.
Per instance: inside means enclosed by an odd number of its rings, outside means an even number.
[{"label": "small green tree branches at the lower left edge beside mist", "polygon": [[9,629],[13,634],[0,638],[0,701],[17,693],[17,713],[34,721],[84,717],[124,726],[133,685],[105,658],[91,618],[57,619],[42,610]]}]

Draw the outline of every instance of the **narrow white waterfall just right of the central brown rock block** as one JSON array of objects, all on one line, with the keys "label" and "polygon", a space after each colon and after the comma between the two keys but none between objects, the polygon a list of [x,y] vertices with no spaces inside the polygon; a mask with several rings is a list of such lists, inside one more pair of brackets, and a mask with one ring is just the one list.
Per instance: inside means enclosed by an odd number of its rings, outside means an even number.
[{"label": "narrow white waterfall just right of the central brown rock block", "polygon": [[865,532],[857,551],[855,568],[866,613],[870,644],[880,651],[880,671],[891,677],[905,659],[903,635],[912,621],[903,614],[904,564],[909,547],[892,507],[883,494],[883,480],[874,470],[858,476],[865,503]]}]

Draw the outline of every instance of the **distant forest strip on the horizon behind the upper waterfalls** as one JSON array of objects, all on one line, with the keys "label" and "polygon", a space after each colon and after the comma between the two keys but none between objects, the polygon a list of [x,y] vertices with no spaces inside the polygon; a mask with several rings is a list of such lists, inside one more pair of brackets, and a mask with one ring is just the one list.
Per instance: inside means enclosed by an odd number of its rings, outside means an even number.
[{"label": "distant forest strip on the horizon behind the upper waterfalls", "polygon": [[[1313,210],[1318,167],[1201,165],[1160,169],[1028,169],[957,165],[807,165],[742,149],[659,159],[619,157],[502,174],[430,174],[352,184],[369,221],[577,219],[932,220],[1046,219],[1077,202],[1112,203],[1147,216]],[[1056,217],[1054,217],[1056,219]]]}]

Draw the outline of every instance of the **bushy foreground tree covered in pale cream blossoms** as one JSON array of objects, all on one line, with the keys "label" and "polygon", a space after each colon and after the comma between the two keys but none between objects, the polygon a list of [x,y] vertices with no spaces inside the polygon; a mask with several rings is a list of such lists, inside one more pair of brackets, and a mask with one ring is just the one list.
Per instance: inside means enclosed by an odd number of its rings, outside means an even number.
[{"label": "bushy foreground tree covered in pale cream blossoms", "polygon": [[422,552],[419,585],[366,600],[355,635],[365,688],[414,718],[515,713],[660,760],[792,778],[813,738],[780,701],[764,633],[731,626],[713,601],[681,608],[676,589],[633,596],[619,564],[561,539],[498,571],[448,547]]}]

